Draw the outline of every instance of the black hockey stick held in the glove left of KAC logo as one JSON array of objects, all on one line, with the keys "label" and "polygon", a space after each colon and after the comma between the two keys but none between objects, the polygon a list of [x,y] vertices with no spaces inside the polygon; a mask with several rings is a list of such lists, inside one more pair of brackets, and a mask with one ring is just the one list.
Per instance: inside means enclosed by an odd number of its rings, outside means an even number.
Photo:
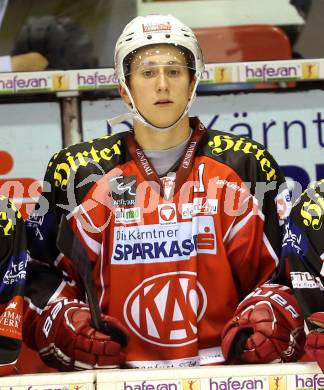
[{"label": "black hockey stick held in the glove left of KAC logo", "polygon": [[61,217],[56,245],[72,261],[83,281],[93,327],[102,333],[108,334],[112,340],[125,347],[127,345],[127,339],[124,333],[119,328],[101,319],[101,311],[92,277],[91,261],[83,245],[74,234],[65,215]]}]

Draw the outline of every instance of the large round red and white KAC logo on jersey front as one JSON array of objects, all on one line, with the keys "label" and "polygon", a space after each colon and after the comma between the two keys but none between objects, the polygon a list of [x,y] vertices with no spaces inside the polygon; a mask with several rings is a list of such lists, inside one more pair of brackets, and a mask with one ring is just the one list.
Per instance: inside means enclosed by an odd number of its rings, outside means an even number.
[{"label": "large round red and white KAC logo on jersey front", "polygon": [[145,279],[127,297],[124,318],[141,339],[180,347],[197,340],[207,294],[194,272],[170,272]]}]

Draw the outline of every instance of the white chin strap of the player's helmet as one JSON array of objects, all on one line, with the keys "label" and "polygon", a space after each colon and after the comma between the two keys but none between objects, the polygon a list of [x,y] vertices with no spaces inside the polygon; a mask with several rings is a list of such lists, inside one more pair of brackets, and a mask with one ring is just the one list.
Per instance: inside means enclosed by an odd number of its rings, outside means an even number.
[{"label": "white chin strap of the player's helmet", "polygon": [[124,120],[137,120],[138,122],[142,123],[144,126],[150,127],[151,129],[153,129],[155,131],[165,132],[165,131],[173,129],[175,126],[177,126],[180,123],[180,121],[188,113],[193,101],[196,98],[195,92],[196,92],[200,77],[198,75],[195,75],[195,77],[196,77],[196,81],[195,81],[195,85],[193,87],[190,99],[189,99],[183,113],[181,114],[181,116],[172,125],[170,125],[168,127],[158,127],[158,126],[154,126],[147,119],[145,119],[144,116],[136,108],[132,94],[124,81],[121,81],[120,84],[123,88],[125,88],[125,91],[129,97],[129,100],[131,101],[131,105],[125,103],[127,108],[130,110],[130,112],[115,116],[111,119],[108,119],[107,122],[109,123],[110,126],[114,126],[114,125],[116,125]]}]

